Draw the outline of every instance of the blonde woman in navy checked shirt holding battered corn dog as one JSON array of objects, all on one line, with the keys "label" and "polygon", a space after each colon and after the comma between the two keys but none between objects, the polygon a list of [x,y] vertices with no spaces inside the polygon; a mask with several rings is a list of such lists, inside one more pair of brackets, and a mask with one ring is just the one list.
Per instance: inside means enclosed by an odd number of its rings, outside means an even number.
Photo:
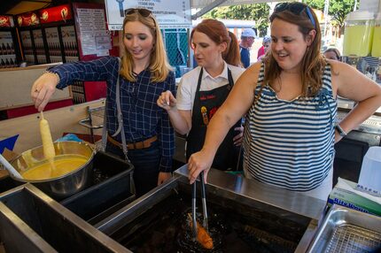
[{"label": "blonde woman in navy checked shirt holding battered corn dog", "polygon": [[31,96],[43,111],[55,88],[75,80],[105,80],[105,150],[131,161],[136,196],[142,196],[171,176],[174,129],[156,99],[166,90],[175,92],[175,74],[152,12],[134,8],[125,13],[121,61],[105,57],[54,66],[35,80]]}]

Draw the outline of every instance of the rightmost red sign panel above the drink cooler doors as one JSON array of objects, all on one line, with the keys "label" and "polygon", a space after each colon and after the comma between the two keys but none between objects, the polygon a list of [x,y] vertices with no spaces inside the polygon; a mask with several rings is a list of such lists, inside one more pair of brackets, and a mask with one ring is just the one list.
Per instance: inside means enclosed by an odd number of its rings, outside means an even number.
[{"label": "rightmost red sign panel above the drink cooler doors", "polygon": [[51,23],[57,21],[64,21],[73,18],[72,10],[70,9],[70,4],[63,4],[56,7],[51,7],[47,9],[40,10],[40,21],[42,24]]}]

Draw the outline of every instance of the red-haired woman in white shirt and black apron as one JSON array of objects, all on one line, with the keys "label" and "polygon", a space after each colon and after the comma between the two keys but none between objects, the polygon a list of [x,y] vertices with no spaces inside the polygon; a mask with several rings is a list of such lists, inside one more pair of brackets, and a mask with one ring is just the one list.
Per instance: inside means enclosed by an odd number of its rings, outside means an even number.
[{"label": "red-haired woman in white shirt and black apron", "polygon": [[[245,71],[240,67],[237,37],[221,21],[204,19],[194,27],[191,47],[198,67],[183,75],[176,98],[166,91],[158,99],[158,105],[167,110],[175,130],[187,134],[187,158],[201,149],[210,119]],[[242,130],[241,120],[237,119],[214,158],[214,168],[237,169],[237,146],[242,142]]]}]

